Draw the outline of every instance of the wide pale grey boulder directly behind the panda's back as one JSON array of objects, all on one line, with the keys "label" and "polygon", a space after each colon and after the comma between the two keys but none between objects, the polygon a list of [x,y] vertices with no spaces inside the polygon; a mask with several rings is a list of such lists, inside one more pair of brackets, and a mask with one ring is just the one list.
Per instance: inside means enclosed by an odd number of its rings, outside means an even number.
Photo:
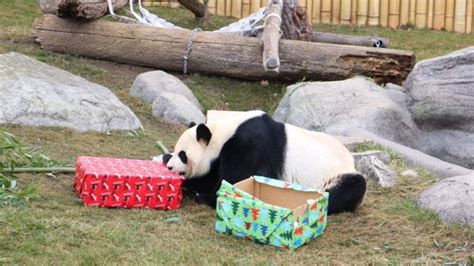
[{"label": "wide pale grey boulder directly behind the panda's back", "polygon": [[412,147],[418,145],[417,127],[410,114],[383,88],[361,77],[292,85],[273,118],[330,134],[362,128]]}]

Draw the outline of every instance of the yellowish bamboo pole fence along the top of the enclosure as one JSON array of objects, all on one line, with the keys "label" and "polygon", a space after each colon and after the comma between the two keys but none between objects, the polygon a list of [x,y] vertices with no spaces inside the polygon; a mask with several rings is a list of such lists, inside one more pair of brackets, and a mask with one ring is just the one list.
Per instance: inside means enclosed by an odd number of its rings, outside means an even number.
[{"label": "yellowish bamboo pole fence along the top of the enclosure", "polygon": [[[178,7],[176,0],[143,0],[145,5]],[[237,18],[267,0],[208,0],[209,11]],[[299,0],[312,23],[419,28],[461,33],[474,31],[474,0]]]}]

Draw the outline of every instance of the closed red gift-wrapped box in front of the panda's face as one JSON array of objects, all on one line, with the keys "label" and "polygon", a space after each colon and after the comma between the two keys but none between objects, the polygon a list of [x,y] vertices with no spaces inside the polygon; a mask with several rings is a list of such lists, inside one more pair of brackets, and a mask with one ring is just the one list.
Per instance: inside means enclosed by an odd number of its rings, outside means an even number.
[{"label": "closed red gift-wrapped box in front of the panda's face", "polygon": [[184,178],[155,161],[79,157],[74,191],[85,205],[177,209]]}]

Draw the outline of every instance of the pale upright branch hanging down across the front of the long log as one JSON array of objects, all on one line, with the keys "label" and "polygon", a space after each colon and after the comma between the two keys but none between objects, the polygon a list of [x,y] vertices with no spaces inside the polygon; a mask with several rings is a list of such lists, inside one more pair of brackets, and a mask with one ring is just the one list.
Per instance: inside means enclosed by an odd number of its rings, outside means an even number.
[{"label": "pale upright branch hanging down across the front of the long log", "polygon": [[272,0],[267,7],[267,17],[263,29],[263,68],[271,76],[280,71],[280,56],[278,43],[281,38],[281,10],[282,0]]}]

